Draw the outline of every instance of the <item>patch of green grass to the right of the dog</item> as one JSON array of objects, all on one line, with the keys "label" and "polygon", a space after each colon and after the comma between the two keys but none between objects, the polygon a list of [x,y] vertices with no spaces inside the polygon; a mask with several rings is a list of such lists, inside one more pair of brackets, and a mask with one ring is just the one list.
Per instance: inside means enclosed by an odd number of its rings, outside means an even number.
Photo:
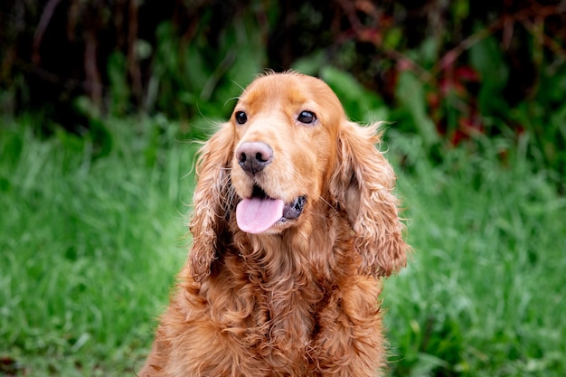
[{"label": "patch of green grass to the right of the dog", "polygon": [[566,198],[522,145],[432,166],[420,139],[392,137],[415,248],[385,289],[397,375],[566,375]]}]

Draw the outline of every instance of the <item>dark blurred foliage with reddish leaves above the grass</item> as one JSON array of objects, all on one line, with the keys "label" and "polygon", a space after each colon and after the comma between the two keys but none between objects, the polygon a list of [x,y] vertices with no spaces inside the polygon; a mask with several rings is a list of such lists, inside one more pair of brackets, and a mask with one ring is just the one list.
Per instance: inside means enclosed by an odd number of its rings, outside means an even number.
[{"label": "dark blurred foliage with reddish leaves above the grass", "polygon": [[[428,146],[528,133],[533,157],[552,166],[563,187],[563,2],[6,0],[0,6],[0,107],[41,111],[51,119],[44,130],[54,122],[80,133],[92,127],[93,114],[141,110],[184,119],[184,132],[198,134],[194,119],[225,117],[225,100],[258,71],[301,64],[324,76],[332,66],[350,72],[363,85],[360,93],[373,93],[393,109],[390,118],[401,130],[420,133]],[[364,108],[346,110],[357,117]]]}]

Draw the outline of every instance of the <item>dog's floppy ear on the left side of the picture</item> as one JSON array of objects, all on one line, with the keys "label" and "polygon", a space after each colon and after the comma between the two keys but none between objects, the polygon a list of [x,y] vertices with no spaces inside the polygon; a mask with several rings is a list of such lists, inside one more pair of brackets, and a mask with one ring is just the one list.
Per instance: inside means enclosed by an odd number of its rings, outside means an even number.
[{"label": "dog's floppy ear on the left side of the picture", "polygon": [[196,162],[197,184],[193,194],[193,249],[190,252],[190,271],[195,281],[203,281],[211,273],[219,242],[228,231],[233,207],[231,188],[231,156],[233,136],[231,124],[226,123],[199,151]]}]

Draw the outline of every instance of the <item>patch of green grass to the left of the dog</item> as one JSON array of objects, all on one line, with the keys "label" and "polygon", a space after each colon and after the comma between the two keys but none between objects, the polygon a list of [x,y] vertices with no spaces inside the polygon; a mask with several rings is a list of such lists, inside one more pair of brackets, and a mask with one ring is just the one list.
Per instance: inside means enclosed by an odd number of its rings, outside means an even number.
[{"label": "patch of green grass to the left of the dog", "polygon": [[194,146],[115,120],[96,159],[89,141],[28,126],[0,134],[0,355],[17,362],[4,372],[132,375],[186,257]]}]

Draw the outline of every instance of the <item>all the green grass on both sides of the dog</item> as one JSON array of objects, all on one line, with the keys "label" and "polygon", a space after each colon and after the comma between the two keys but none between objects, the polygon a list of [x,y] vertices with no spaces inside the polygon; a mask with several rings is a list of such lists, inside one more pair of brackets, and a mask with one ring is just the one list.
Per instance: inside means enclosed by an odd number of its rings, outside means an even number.
[{"label": "all the green grass on both sides of the dog", "polygon": [[[131,376],[186,257],[195,146],[159,118],[108,119],[102,139],[32,123],[0,125],[0,375]],[[502,162],[502,140],[432,165],[388,136],[415,250],[383,297],[391,374],[566,375],[552,176],[520,146]]]}]

